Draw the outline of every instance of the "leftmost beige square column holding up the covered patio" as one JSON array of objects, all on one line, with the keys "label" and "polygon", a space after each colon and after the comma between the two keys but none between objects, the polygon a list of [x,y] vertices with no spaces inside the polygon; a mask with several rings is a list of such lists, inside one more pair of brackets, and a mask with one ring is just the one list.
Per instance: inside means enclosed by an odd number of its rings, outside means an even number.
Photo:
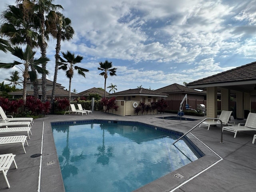
[{"label": "leftmost beige square column holding up the covered patio", "polygon": [[208,87],[206,89],[206,116],[208,118],[217,118],[217,87]]}]

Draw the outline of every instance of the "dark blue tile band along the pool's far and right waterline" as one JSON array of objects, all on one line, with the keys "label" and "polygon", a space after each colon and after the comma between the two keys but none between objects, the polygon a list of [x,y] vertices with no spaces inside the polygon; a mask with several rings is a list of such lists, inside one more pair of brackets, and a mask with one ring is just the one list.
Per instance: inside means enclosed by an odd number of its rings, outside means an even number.
[{"label": "dark blue tile band along the pool's far and right waterline", "polygon": [[[93,120],[72,120],[72,121],[61,121],[61,122],[51,122],[51,126],[58,126],[58,125],[76,125],[76,124],[88,124],[88,123],[117,123],[117,124],[128,124],[128,125],[142,125],[150,129],[166,132],[169,134],[174,134],[178,137],[181,137],[183,133],[177,132],[174,130],[169,130],[166,128],[162,128],[159,126],[149,125],[142,122],[134,122],[134,121],[120,121],[120,120],[99,120],[99,119],[93,119]],[[188,144],[195,150],[195,152],[200,156],[204,156],[205,154],[186,136],[184,137],[185,142],[188,142]]]}]

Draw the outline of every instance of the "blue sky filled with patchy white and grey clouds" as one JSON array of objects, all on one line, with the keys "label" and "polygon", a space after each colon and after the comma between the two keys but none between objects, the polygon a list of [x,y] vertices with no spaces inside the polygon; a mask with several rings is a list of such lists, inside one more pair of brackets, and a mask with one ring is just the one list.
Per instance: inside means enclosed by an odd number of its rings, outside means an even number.
[{"label": "blue sky filled with patchy white and grey clouds", "polygon": [[[1,0],[0,11],[15,0]],[[117,76],[107,78],[117,91],[153,90],[192,82],[256,59],[256,0],[55,0],[72,20],[75,35],[62,51],[84,57],[72,90],[104,88],[98,62],[112,61]],[[56,40],[48,42],[49,80],[54,75]],[[38,50],[37,58],[40,57]],[[0,62],[16,58],[0,52]],[[0,70],[0,82],[11,70]],[[57,82],[68,88],[64,71]],[[6,82],[7,83],[7,82]],[[109,91],[109,89],[107,89]]]}]

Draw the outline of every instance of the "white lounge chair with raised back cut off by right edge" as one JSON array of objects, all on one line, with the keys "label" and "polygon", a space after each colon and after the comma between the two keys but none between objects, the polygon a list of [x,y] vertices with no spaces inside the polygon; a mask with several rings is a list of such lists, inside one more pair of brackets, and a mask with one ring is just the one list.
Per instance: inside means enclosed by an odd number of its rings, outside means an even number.
[{"label": "white lounge chair with raised back cut off by right edge", "polygon": [[236,138],[237,132],[240,131],[256,131],[256,113],[249,113],[244,126],[228,126],[222,127],[222,132],[226,130],[235,133]]}]

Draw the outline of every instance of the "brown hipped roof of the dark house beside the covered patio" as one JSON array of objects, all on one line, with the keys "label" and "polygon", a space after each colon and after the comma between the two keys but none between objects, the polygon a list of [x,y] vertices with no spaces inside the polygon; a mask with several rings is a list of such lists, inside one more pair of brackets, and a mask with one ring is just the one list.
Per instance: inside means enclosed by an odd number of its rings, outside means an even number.
[{"label": "brown hipped roof of the dark house beside the covered patio", "polygon": [[192,94],[206,94],[205,92],[197,91],[197,90],[194,90],[194,89],[191,89],[191,88],[188,88],[186,86],[179,85],[176,83],[168,85],[168,86],[160,88],[160,89],[156,89],[155,91],[161,92],[161,93],[167,93],[167,94],[180,93],[180,92],[192,93]]}]

